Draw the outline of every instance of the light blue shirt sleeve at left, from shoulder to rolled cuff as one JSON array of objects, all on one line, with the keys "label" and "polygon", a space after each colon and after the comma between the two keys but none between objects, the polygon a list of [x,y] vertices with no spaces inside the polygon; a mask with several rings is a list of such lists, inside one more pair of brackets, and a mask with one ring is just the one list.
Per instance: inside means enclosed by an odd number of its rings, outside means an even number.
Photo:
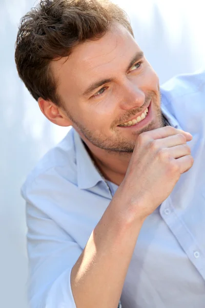
[{"label": "light blue shirt sleeve at left, from shoulder to rolled cuff", "polygon": [[[55,169],[27,179],[22,187],[26,200],[29,259],[29,308],[76,308],[71,290],[71,270],[83,251],[77,188]],[[79,202],[79,201],[78,201]],[[77,226],[75,225],[77,223]],[[119,306],[120,307],[120,306]]]}]

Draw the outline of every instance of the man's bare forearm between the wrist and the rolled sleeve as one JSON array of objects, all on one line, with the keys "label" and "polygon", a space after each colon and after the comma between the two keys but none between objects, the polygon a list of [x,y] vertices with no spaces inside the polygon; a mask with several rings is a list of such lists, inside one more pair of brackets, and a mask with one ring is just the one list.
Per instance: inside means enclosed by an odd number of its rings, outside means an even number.
[{"label": "man's bare forearm between the wrist and the rolled sleeve", "polygon": [[71,286],[77,308],[118,305],[142,226],[142,220],[131,222],[126,207],[113,199],[73,266]]}]

